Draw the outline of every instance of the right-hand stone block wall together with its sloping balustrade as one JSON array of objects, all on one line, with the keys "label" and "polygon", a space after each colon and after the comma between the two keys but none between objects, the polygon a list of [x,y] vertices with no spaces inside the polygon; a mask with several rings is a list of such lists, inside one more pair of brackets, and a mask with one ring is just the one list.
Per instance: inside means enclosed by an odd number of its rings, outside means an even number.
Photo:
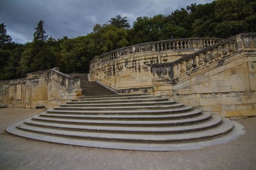
[{"label": "right-hand stone block wall together with its sloping balustrade", "polygon": [[222,117],[256,116],[256,34],[236,35],[153,69],[164,68],[170,76],[153,79],[156,95]]}]

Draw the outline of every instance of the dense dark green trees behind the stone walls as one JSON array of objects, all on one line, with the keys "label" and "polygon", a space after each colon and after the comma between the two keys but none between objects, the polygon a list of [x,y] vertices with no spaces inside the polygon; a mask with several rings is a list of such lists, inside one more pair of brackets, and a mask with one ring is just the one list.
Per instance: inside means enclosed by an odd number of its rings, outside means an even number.
[{"label": "dense dark green trees behind the stone walls", "polygon": [[26,73],[59,67],[65,73],[89,72],[89,63],[104,52],[128,45],[172,38],[220,37],[256,32],[255,0],[214,0],[191,4],[169,15],[138,17],[132,27],[127,17],[110,18],[95,24],[85,36],[54,39],[40,20],[32,42],[11,42],[5,25],[0,24],[0,79],[24,77]]}]

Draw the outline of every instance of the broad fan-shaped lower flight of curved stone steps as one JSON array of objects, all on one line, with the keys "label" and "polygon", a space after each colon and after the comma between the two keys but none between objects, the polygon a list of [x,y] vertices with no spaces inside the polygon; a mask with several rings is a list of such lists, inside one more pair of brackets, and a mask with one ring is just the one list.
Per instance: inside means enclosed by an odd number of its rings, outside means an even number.
[{"label": "broad fan-shaped lower flight of curved stone steps", "polygon": [[228,135],[234,126],[229,119],[166,97],[97,93],[101,91],[98,85],[87,80],[81,82],[85,85],[84,96],[6,130],[18,136],[61,144],[172,151],[195,149],[198,141],[204,145],[209,139]]}]

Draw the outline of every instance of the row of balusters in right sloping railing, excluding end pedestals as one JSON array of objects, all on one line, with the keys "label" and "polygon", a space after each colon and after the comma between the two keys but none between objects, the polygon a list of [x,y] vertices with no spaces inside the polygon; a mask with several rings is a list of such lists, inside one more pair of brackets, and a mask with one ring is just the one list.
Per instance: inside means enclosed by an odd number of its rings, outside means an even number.
[{"label": "row of balusters in right sloping railing, excluding end pedestals", "polygon": [[222,58],[226,58],[227,56],[234,54],[234,51],[235,45],[232,41],[222,46],[218,46],[217,48],[210,51],[206,51],[198,55],[192,56],[186,61],[182,61],[174,65],[174,78],[176,76],[184,75],[190,73],[191,71],[195,71],[198,68],[208,66],[209,64],[221,60]]}]

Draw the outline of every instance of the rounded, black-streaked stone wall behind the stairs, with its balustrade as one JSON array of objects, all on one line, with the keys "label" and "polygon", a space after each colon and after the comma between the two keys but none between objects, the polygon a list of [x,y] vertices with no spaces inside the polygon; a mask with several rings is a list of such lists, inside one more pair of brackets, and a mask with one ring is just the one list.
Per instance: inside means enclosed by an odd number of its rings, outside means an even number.
[{"label": "rounded, black-streaked stone wall behind the stairs, with its balustrade", "polygon": [[112,51],[90,63],[90,78],[120,94],[153,92],[153,64],[174,62],[218,41],[217,38],[177,39]]}]

